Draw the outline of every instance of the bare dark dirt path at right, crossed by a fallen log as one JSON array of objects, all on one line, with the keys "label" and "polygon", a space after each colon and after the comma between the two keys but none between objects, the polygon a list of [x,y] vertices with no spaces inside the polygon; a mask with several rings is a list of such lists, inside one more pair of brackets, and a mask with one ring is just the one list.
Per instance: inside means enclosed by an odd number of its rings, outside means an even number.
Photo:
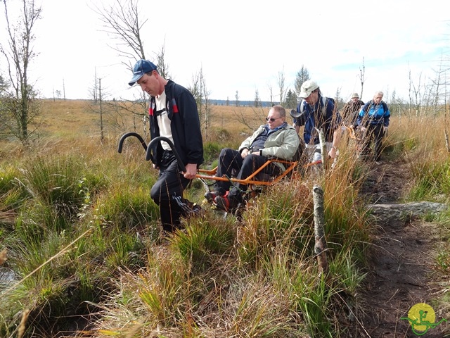
[{"label": "bare dark dirt path at right, crossed by a fallen log", "polygon": [[[408,165],[399,160],[372,168],[362,189],[368,202],[399,203],[411,182]],[[370,270],[356,311],[359,324],[352,337],[419,337],[400,318],[408,317],[416,303],[432,306],[437,282],[448,279],[432,269],[435,245],[442,240],[437,227],[420,220],[386,223],[376,227],[374,237],[368,255]],[[442,315],[436,311],[436,323]],[[449,323],[430,328],[421,337],[444,337],[445,333],[450,333]]]}]

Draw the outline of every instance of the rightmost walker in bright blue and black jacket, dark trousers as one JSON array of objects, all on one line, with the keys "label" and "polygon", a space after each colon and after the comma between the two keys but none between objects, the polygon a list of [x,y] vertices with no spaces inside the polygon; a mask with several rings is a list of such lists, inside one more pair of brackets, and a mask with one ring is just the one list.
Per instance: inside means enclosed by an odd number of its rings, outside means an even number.
[{"label": "rightmost walker in bright blue and black jacket, dark trousers", "polygon": [[375,92],[373,99],[368,101],[359,111],[356,123],[363,133],[361,155],[366,156],[373,140],[373,159],[380,164],[383,136],[389,127],[390,111],[385,101],[383,92]]}]

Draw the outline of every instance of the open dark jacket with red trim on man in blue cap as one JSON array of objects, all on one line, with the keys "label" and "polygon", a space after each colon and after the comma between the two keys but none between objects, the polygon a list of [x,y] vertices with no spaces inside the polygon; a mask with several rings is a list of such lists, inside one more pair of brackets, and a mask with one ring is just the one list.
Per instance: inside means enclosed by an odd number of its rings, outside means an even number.
[{"label": "open dark jacket with red trim on man in blue cap", "polygon": [[[188,89],[168,80],[165,85],[167,116],[171,123],[174,146],[183,164],[203,163],[203,139],[200,130],[197,104]],[[160,136],[160,128],[156,120],[155,97],[151,96],[148,115],[150,119],[150,137],[154,139]],[[152,149],[155,165],[159,165],[162,158],[161,142],[155,144]]]}]

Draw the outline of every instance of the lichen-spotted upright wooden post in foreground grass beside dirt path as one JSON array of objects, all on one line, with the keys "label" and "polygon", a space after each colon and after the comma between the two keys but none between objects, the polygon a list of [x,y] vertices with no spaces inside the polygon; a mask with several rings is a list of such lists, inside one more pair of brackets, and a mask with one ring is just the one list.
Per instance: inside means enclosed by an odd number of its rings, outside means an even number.
[{"label": "lichen-spotted upright wooden post in foreground grass beside dirt path", "polygon": [[316,244],[314,253],[317,256],[317,262],[321,273],[328,273],[328,260],[326,258],[326,239],[325,239],[325,214],[323,208],[323,189],[315,185],[312,189],[314,201],[314,234]]}]

